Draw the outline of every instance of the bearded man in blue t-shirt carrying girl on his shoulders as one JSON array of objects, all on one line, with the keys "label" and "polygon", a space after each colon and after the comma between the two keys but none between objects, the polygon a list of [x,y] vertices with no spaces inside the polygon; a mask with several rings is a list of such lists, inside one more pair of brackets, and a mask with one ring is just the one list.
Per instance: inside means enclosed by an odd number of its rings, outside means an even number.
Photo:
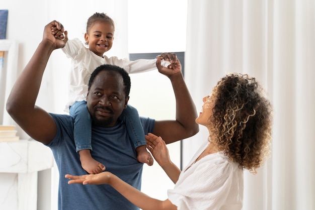
[{"label": "bearded man in blue t-shirt carrying girl on his shoulders", "polygon": [[[59,170],[59,209],[138,209],[110,186],[68,185],[64,178],[65,174],[85,173],[80,156],[75,152],[73,119],[68,115],[47,113],[35,106],[48,59],[55,49],[64,47],[67,40],[60,39],[61,32],[56,36],[51,33],[51,27],[58,24],[52,21],[45,26],[43,40],[11,91],[7,111],[29,136],[51,148]],[[66,37],[67,32],[64,34]],[[172,82],[177,104],[176,120],[140,120],[145,134],[153,133],[166,143],[172,143],[195,135],[199,127],[195,123],[196,108],[179,60],[171,53],[162,56],[172,63],[172,69],[162,67],[158,57],[156,66]],[[124,124],[117,120],[128,103],[130,78],[117,66],[105,65],[97,69],[91,75],[87,95],[88,110],[93,118],[91,154],[106,165],[106,170],[140,189],[143,164],[136,159]]]}]

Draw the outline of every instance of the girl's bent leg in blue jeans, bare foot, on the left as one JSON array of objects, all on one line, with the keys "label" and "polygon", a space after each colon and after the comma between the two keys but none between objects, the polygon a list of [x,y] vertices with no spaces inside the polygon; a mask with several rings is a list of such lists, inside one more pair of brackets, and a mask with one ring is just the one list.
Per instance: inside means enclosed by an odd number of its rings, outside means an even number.
[{"label": "girl's bent leg in blue jeans, bare foot, on the left", "polygon": [[92,119],[86,101],[76,101],[69,114],[74,119],[73,138],[75,150],[80,154],[82,168],[90,174],[101,173],[105,166],[91,156]]}]

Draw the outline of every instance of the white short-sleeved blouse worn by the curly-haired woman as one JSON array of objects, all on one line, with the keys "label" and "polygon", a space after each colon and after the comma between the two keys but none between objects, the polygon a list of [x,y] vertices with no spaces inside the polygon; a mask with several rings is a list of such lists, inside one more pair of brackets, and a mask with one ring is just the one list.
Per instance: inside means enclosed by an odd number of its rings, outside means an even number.
[{"label": "white short-sleeved blouse worn by the curly-haired woman", "polygon": [[243,169],[228,161],[222,153],[207,155],[195,162],[205,150],[205,142],[182,171],[169,200],[178,209],[241,209],[243,205]]}]

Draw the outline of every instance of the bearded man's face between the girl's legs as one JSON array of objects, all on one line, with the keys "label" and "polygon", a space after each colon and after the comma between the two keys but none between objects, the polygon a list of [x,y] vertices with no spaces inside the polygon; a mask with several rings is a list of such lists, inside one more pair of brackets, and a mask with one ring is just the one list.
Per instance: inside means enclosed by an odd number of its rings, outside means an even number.
[{"label": "bearded man's face between the girl's legs", "polygon": [[112,127],[127,107],[129,96],[125,98],[124,82],[119,73],[101,71],[87,95],[88,110],[93,124]]}]

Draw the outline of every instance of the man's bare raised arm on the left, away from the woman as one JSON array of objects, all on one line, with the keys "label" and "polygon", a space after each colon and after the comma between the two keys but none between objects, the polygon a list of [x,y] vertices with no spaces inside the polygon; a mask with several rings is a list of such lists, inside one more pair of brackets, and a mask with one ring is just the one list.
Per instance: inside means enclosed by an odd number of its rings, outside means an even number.
[{"label": "man's bare raised arm on the left, away from the woman", "polygon": [[[64,47],[67,40],[61,40],[52,34],[51,28],[56,26],[60,29],[62,27],[56,21],[45,26],[43,40],[15,82],[6,107],[13,120],[30,137],[44,144],[48,144],[54,138],[57,128],[52,117],[36,107],[35,102],[52,51]],[[55,35],[59,36],[61,33],[60,31]]]}]

